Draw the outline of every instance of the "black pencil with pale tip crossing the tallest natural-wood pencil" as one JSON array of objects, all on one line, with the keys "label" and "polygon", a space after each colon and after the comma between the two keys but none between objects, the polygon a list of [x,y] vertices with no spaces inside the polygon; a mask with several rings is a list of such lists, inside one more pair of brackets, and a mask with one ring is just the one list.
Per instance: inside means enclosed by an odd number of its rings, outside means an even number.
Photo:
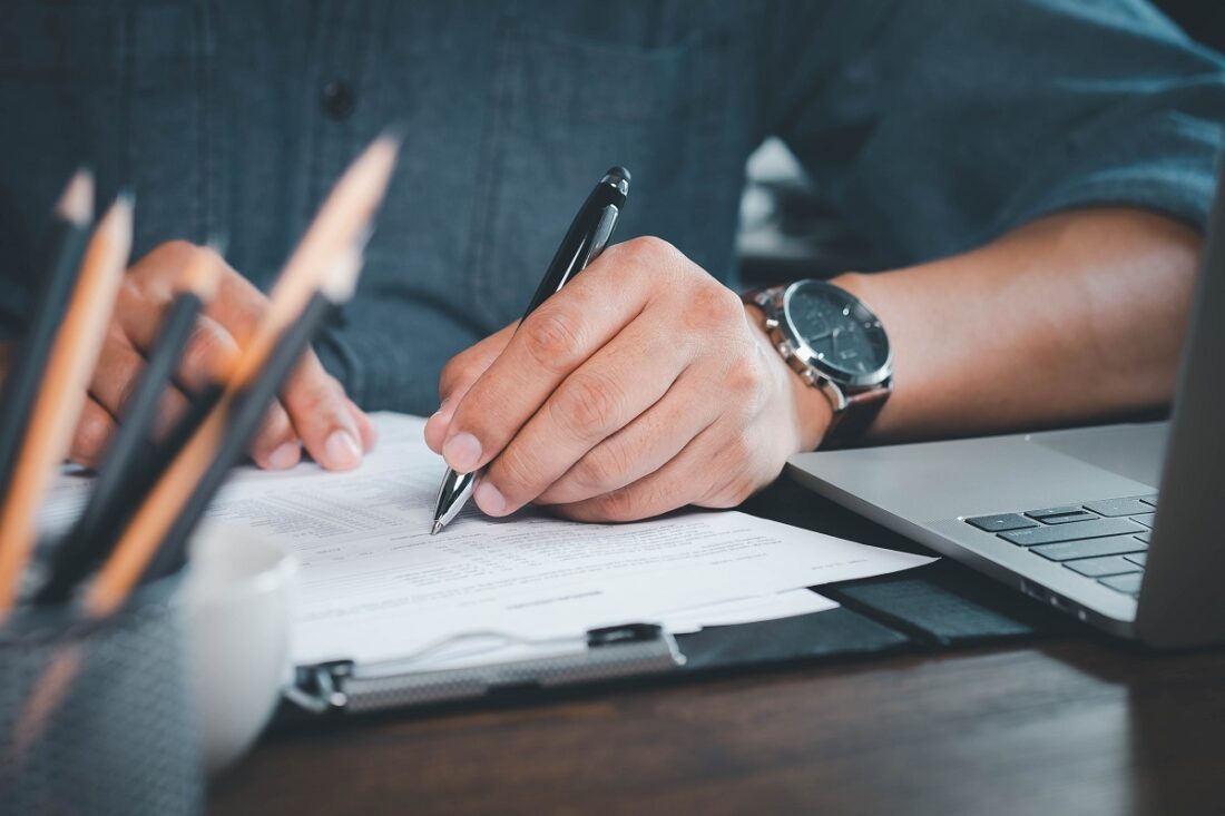
[{"label": "black pencil with pale tip crossing the tallest natural-wood pencil", "polygon": [[227,417],[225,437],[216,457],[170,526],[157,554],[146,567],[142,582],[173,575],[186,564],[191,533],[208,508],[208,504],[225,483],[230,469],[245,455],[268,407],[277,398],[306,347],[332,317],[337,306],[352,295],[361,267],[360,255],[354,251],[341,263],[343,268],[338,268],[325,287],[311,295],[298,320],[282,333],[260,375],[234,401]]}]

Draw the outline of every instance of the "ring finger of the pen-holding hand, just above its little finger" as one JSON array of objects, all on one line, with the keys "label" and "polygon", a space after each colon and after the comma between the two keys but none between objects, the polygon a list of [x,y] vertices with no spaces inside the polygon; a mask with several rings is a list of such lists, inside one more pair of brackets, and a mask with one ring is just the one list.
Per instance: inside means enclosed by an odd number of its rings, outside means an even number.
[{"label": "ring finger of the pen-holding hand, just above its little finger", "polygon": [[682,371],[663,399],[588,451],[535,502],[566,505],[592,499],[668,464],[718,417],[718,401],[699,393],[696,381],[692,369]]}]

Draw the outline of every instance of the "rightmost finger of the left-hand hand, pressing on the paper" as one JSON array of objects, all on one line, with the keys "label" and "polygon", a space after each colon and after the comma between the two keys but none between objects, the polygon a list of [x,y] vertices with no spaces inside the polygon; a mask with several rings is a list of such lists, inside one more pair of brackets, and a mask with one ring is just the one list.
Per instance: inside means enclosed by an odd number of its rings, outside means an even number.
[{"label": "rightmost finger of the left-hand hand, pressing on the paper", "polygon": [[306,352],[282,392],[298,436],[311,457],[330,470],[361,463],[361,431],[341,383]]}]

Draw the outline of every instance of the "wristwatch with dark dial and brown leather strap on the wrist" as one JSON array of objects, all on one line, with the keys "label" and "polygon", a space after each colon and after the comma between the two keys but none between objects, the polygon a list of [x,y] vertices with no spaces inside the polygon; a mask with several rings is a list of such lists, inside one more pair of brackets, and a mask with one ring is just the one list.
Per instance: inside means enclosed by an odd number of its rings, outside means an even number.
[{"label": "wristwatch with dark dial and brown leather strap on the wrist", "polygon": [[766,333],[786,364],[829,399],[823,445],[861,436],[893,391],[893,354],[862,300],[824,281],[758,289],[745,303],[766,314]]}]

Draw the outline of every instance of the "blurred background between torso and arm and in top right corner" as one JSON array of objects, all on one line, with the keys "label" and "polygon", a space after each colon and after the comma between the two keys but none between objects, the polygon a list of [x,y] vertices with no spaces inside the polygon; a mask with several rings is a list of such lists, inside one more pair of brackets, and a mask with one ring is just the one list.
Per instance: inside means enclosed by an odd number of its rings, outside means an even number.
[{"label": "blurred background between torso and arm and in top right corner", "polygon": [[[1225,0],[1156,0],[1191,37],[1225,51]],[[872,252],[811,195],[786,147],[768,140],[748,161],[739,236],[745,287],[846,270],[870,271]]]}]

